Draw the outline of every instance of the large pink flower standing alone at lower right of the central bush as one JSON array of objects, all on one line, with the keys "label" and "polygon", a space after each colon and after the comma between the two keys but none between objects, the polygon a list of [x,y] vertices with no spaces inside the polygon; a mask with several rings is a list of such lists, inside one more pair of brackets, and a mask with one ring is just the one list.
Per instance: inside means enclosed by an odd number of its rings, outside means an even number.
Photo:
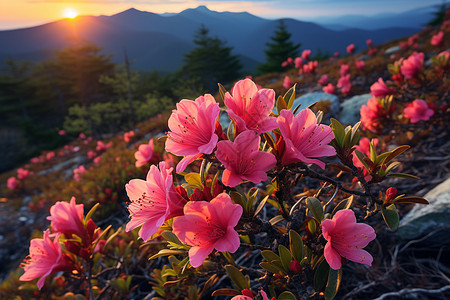
[{"label": "large pink flower standing alone at lower right of the central bush", "polygon": [[367,224],[356,223],[355,213],[352,210],[340,210],[333,219],[323,220],[322,234],[328,241],[324,250],[325,259],[333,270],[341,268],[341,257],[372,265],[372,255],[362,248],[375,239],[375,231]]}]

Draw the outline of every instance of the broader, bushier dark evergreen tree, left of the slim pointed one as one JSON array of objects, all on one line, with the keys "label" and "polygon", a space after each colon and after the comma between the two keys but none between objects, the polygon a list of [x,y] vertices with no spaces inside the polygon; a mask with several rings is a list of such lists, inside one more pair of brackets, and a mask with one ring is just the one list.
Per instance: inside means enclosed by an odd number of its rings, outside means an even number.
[{"label": "broader, bushier dark evergreen tree, left of the slim pointed one", "polygon": [[194,36],[197,47],[185,55],[179,75],[212,93],[218,89],[218,82],[226,84],[239,78],[242,65],[238,56],[231,53],[232,47],[208,34],[209,30],[202,25]]}]

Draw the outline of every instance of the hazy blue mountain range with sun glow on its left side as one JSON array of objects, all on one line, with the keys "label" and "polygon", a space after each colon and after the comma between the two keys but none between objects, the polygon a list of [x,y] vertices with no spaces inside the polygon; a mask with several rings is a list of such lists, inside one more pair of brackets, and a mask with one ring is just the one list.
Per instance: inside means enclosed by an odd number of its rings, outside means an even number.
[{"label": "hazy blue mountain range with sun glow on its left side", "polygon": [[[357,50],[374,44],[411,35],[418,29],[389,27],[375,30],[323,27],[312,22],[283,19],[292,41],[302,49],[323,52],[345,52],[354,43]],[[424,20],[427,21],[427,20]],[[40,26],[0,31],[0,63],[6,59],[39,61],[52,56],[54,50],[69,46],[74,40],[92,42],[113,53],[113,61],[122,63],[126,51],[137,70],[174,71],[183,63],[183,56],[195,45],[193,36],[201,25],[232,46],[244,69],[253,71],[265,60],[264,49],[276,30],[279,20],[263,19],[247,12],[216,12],[205,6],[177,14],[155,14],[134,8],[111,16],[79,16]],[[328,26],[330,27],[330,26]]]}]

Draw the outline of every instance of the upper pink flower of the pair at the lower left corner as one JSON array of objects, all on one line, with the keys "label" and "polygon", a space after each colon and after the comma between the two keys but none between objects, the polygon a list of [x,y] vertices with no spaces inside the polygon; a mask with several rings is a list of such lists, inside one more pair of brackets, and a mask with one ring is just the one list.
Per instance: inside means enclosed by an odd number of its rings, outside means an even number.
[{"label": "upper pink flower of the pair at the lower left corner", "polygon": [[53,232],[63,233],[66,236],[76,234],[83,237],[85,227],[83,225],[83,204],[76,204],[75,197],[66,201],[58,201],[50,207],[50,216],[47,217]]}]

